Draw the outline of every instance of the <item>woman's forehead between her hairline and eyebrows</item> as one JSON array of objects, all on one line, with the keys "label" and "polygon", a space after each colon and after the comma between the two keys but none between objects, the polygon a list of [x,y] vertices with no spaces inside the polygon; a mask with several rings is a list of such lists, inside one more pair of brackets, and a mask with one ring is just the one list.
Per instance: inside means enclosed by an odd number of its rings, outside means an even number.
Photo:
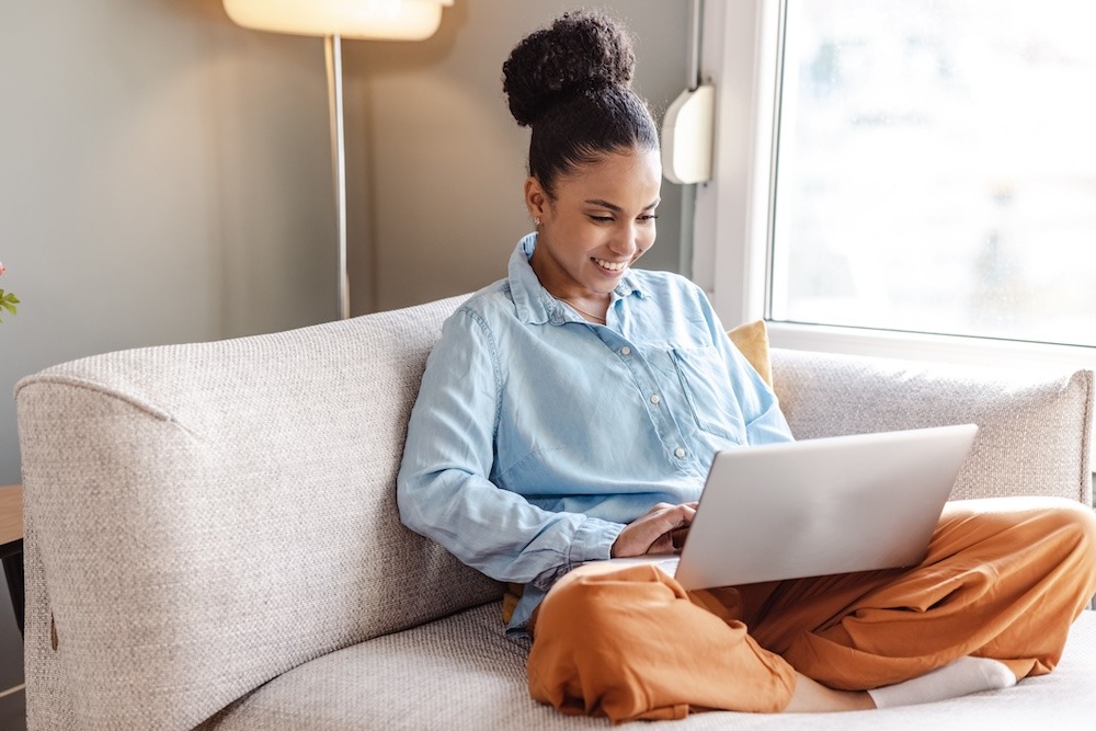
[{"label": "woman's forehead between her hairline and eyebrows", "polygon": [[580,165],[557,183],[557,197],[569,201],[596,198],[619,206],[644,208],[662,190],[662,160],[658,150],[632,149],[610,152]]}]

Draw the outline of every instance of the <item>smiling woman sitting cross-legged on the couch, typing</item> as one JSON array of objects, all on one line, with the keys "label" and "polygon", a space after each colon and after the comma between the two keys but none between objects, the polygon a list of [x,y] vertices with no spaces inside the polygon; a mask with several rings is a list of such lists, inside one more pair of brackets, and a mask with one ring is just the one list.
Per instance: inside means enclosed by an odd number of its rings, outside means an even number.
[{"label": "smiling woman sitting cross-legged on the couch, typing", "polygon": [[[686,593],[672,550],[718,449],[791,439],[776,397],[654,243],[658,132],[624,31],[563,15],[503,66],[536,232],[446,321],[411,416],[403,522],[524,585],[534,697],[615,721],[921,703],[1049,672],[1096,592],[1096,521],[951,505],[925,563]],[[1037,615],[1036,615],[1037,613]],[[1038,616],[1038,621],[1031,621]],[[882,687],[887,686],[887,687]]]}]

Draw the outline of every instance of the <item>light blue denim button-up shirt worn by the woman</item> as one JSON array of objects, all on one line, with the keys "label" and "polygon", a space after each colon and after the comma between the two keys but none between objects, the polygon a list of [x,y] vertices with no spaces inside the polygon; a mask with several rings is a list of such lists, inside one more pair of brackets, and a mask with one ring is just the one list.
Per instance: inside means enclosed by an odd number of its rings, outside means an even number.
[{"label": "light blue denim button-up shirt worn by the woman", "polygon": [[791,439],[696,285],[631,270],[592,324],[540,285],[535,245],[446,320],[398,479],[408,527],[527,584],[511,630],[627,523],[697,500],[718,449]]}]

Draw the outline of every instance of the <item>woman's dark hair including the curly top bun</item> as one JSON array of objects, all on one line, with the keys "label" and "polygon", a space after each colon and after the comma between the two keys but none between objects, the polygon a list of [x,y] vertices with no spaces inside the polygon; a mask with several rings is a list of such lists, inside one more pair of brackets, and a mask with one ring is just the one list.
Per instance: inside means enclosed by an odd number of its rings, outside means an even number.
[{"label": "woman's dark hair including the curly top bun", "polygon": [[610,152],[659,149],[651,111],[631,90],[635,68],[625,28],[585,11],[563,14],[511,52],[502,88],[517,124],[533,128],[529,174],[546,193]]}]

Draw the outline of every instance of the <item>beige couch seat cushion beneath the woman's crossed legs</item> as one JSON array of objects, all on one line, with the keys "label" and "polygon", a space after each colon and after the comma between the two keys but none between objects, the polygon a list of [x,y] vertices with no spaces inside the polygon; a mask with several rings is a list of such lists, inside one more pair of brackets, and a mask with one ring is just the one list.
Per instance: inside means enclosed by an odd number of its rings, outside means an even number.
[{"label": "beige couch seat cushion beneath the woman's crossed legs", "polygon": [[[526,642],[503,636],[499,605],[491,603],[313,660],[233,704],[203,728],[206,731],[608,728],[605,719],[566,717],[534,701],[525,683],[527,650]],[[1087,729],[1093,718],[1094,687],[1096,614],[1085,612],[1073,628],[1058,670],[1007,690],[856,713],[698,713],[667,728]],[[652,728],[648,722],[623,726]]]}]

